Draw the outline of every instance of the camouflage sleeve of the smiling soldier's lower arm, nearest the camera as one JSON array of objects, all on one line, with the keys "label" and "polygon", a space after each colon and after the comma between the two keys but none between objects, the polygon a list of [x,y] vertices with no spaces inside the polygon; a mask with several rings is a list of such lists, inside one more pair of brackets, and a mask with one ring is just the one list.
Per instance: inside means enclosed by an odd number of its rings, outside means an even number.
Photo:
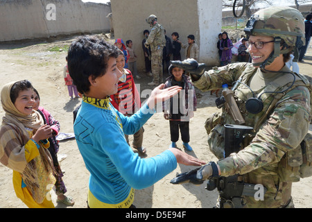
[{"label": "camouflage sleeve of the smiling soldier's lower arm, nearest the camera", "polygon": [[259,167],[275,164],[302,142],[309,130],[310,93],[296,87],[277,104],[249,146],[218,162],[221,176],[245,174]]}]

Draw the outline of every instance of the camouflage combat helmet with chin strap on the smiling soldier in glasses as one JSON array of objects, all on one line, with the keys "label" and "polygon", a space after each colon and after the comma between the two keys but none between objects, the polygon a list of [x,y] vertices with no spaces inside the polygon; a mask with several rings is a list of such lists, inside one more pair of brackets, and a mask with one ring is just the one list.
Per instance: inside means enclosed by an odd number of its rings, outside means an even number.
[{"label": "camouflage combat helmet with chin strap on the smiling soldier in glasses", "polygon": [[274,51],[266,61],[254,64],[261,68],[272,63],[279,54],[290,51],[295,52],[294,61],[297,60],[298,49],[305,44],[304,17],[300,11],[288,6],[271,6],[255,12],[248,20],[244,31],[246,35],[274,37]]}]

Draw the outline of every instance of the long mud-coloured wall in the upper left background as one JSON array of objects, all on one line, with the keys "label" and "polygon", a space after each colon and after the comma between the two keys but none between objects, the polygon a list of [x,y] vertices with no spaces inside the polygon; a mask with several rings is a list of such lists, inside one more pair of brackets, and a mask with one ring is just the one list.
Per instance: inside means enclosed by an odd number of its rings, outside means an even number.
[{"label": "long mud-coloured wall in the upper left background", "polygon": [[80,0],[1,0],[0,41],[109,31],[110,12]]}]

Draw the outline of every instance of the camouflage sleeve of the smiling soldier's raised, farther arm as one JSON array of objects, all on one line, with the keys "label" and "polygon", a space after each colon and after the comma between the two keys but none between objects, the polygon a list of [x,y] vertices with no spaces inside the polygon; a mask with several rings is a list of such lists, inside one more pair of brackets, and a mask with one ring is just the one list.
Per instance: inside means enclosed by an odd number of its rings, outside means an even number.
[{"label": "camouflage sleeve of the smiling soldier's raised, farther arm", "polygon": [[238,62],[226,65],[224,67],[214,67],[205,71],[199,80],[192,78],[192,83],[202,92],[222,88],[223,84],[231,86],[234,81],[239,79],[246,67],[250,63]]}]

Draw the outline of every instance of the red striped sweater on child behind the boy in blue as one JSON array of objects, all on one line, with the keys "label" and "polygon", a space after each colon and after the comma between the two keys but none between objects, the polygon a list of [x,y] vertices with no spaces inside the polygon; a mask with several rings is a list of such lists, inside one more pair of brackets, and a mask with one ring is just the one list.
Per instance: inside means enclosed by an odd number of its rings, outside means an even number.
[{"label": "red striped sweater on child behind the boy in blue", "polygon": [[111,103],[122,114],[134,114],[141,107],[141,100],[135,80],[133,80],[130,70],[123,69],[126,74],[125,83],[119,81],[118,92],[111,95]]}]

